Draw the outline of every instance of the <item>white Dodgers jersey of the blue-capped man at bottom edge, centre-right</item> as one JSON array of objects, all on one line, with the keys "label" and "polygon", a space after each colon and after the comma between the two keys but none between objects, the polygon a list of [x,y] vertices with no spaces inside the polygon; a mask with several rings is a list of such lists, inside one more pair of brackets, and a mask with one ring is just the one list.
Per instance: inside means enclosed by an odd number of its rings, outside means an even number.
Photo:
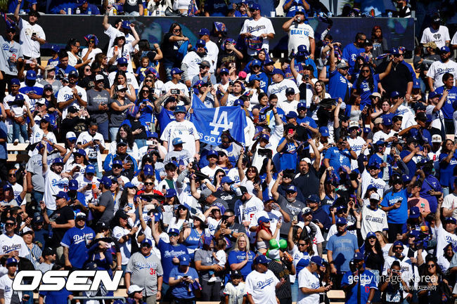
[{"label": "white Dodgers jersey of the blue-capped man at bottom edge, centre-right", "polygon": [[246,277],[246,292],[252,296],[254,303],[277,304],[276,284],[278,278],[271,270],[264,273],[254,270]]}]

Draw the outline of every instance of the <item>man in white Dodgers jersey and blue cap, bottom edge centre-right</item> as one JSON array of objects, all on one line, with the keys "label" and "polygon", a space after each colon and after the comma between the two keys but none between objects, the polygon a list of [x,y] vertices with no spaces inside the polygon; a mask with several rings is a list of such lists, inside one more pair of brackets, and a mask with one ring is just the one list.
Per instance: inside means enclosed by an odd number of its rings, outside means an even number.
[{"label": "man in white Dodgers jersey and blue cap, bottom edge centre-right", "polygon": [[246,293],[249,304],[276,304],[276,289],[285,284],[268,269],[268,260],[264,255],[257,256],[254,261],[254,271],[246,277]]}]

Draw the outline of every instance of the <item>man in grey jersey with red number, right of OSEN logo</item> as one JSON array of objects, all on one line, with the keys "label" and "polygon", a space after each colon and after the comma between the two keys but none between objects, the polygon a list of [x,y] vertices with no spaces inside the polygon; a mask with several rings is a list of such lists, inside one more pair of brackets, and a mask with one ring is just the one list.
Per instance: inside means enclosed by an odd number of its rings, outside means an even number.
[{"label": "man in grey jersey with red number, right of OSEN logo", "polygon": [[141,242],[140,252],[136,252],[129,258],[125,270],[125,286],[131,284],[144,289],[146,303],[155,304],[162,297],[163,270],[159,258],[152,253],[153,242],[145,239]]}]

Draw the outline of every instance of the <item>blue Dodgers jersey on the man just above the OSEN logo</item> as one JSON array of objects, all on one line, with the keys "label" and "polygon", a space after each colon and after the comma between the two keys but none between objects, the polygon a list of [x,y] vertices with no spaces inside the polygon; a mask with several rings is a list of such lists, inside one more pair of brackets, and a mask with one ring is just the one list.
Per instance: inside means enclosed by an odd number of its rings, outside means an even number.
[{"label": "blue Dodgers jersey on the man just above the OSEN logo", "polygon": [[60,244],[68,248],[68,259],[73,267],[82,268],[89,258],[89,248],[87,244],[94,239],[95,232],[90,227],[84,226],[80,229],[72,227],[63,235]]}]

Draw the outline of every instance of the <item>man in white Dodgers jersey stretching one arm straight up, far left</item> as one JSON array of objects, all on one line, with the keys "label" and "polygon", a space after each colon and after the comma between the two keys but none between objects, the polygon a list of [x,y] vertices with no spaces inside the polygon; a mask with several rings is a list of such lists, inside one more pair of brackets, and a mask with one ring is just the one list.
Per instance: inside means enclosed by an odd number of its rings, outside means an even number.
[{"label": "man in white Dodgers jersey stretching one arm straight up, far left", "polygon": [[59,192],[63,192],[67,189],[68,180],[71,178],[70,174],[63,171],[63,159],[60,157],[54,159],[51,167],[48,166],[48,150],[46,149],[46,142],[41,140],[43,145],[43,158],[41,164],[43,164],[43,176],[44,176],[44,204],[46,205],[46,211],[48,215],[56,211],[56,199],[54,196]]}]

